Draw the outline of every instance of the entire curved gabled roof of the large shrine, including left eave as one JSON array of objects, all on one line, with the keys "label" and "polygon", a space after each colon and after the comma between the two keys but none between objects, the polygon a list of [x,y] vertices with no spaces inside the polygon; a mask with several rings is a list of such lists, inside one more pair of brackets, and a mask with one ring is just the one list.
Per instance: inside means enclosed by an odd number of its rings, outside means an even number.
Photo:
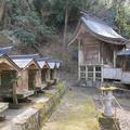
[{"label": "entire curved gabled roof of the large shrine, including left eave", "polygon": [[73,43],[79,36],[81,25],[84,25],[86,29],[95,38],[114,44],[126,44],[127,39],[118,35],[110,26],[98,17],[89,16],[87,13],[80,17],[79,24],[76,28],[74,37],[68,44]]}]

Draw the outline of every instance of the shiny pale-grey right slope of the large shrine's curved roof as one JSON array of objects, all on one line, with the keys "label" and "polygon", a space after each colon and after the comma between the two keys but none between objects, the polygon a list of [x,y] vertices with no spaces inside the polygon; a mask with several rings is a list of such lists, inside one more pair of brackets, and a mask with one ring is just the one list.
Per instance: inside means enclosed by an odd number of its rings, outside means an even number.
[{"label": "shiny pale-grey right slope of the large shrine's curved roof", "polygon": [[127,41],[126,38],[117,34],[108,24],[101,21],[100,18],[90,17],[88,15],[81,16],[81,21],[86,25],[86,27],[96,36],[96,38],[106,41],[113,42],[116,41],[117,43],[123,43]]}]

